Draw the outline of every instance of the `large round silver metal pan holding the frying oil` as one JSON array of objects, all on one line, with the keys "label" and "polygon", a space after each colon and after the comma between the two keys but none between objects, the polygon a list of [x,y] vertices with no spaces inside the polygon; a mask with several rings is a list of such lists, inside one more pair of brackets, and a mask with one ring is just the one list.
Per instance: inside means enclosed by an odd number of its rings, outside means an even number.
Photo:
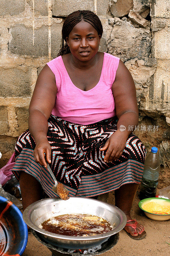
[{"label": "large round silver metal pan holding the frying oil", "polygon": [[[38,226],[45,220],[63,214],[92,214],[104,218],[115,228],[97,236],[63,236],[45,231]],[[70,197],[69,200],[47,198],[29,205],[23,213],[26,224],[46,242],[70,249],[86,249],[104,243],[126,225],[126,215],[119,208],[86,197]]]}]

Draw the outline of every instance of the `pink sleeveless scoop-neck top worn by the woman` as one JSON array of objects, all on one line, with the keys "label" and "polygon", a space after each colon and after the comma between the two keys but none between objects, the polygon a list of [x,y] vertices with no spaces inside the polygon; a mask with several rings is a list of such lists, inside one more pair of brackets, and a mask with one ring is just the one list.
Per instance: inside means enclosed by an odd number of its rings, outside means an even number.
[{"label": "pink sleeveless scoop-neck top worn by the woman", "polygon": [[119,58],[104,52],[98,84],[89,91],[76,87],[67,73],[62,56],[47,63],[55,75],[57,95],[52,115],[75,124],[93,124],[116,115],[112,84]]}]

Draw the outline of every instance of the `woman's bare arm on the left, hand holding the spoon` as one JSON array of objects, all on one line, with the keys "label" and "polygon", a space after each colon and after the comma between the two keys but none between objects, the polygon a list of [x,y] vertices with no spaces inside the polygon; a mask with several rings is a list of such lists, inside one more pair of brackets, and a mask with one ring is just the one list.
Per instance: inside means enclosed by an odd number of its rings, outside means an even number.
[{"label": "woman's bare arm on the left, hand holding the spoon", "polygon": [[51,147],[47,139],[48,118],[55,104],[56,93],[55,75],[48,65],[45,65],[35,84],[28,121],[30,134],[36,142],[33,152],[35,161],[45,167],[47,165],[44,154],[48,163],[51,162]]}]

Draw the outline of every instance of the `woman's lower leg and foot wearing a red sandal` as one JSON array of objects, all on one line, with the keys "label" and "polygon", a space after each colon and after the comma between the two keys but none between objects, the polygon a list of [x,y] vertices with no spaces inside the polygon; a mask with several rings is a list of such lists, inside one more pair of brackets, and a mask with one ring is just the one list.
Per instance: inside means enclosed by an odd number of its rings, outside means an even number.
[{"label": "woman's lower leg and foot wearing a red sandal", "polygon": [[[115,206],[120,208],[127,217],[127,220],[132,220],[130,216],[130,210],[133,204],[133,200],[135,198],[137,188],[139,184],[137,183],[128,183],[122,185],[120,188],[115,190]],[[131,221],[130,224],[133,224],[134,221]],[[144,227],[140,224],[137,224],[137,233],[135,232],[134,228],[125,227],[124,228],[131,236],[138,236],[138,234],[142,234],[144,231]]]}]

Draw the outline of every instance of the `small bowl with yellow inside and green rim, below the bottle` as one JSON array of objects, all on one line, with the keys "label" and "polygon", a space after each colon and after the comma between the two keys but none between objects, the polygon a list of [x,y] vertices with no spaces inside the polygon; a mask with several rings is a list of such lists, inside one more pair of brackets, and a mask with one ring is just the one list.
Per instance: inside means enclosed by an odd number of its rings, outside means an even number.
[{"label": "small bowl with yellow inside and green rim, below the bottle", "polygon": [[170,219],[170,199],[151,197],[141,200],[138,205],[151,220]]}]

